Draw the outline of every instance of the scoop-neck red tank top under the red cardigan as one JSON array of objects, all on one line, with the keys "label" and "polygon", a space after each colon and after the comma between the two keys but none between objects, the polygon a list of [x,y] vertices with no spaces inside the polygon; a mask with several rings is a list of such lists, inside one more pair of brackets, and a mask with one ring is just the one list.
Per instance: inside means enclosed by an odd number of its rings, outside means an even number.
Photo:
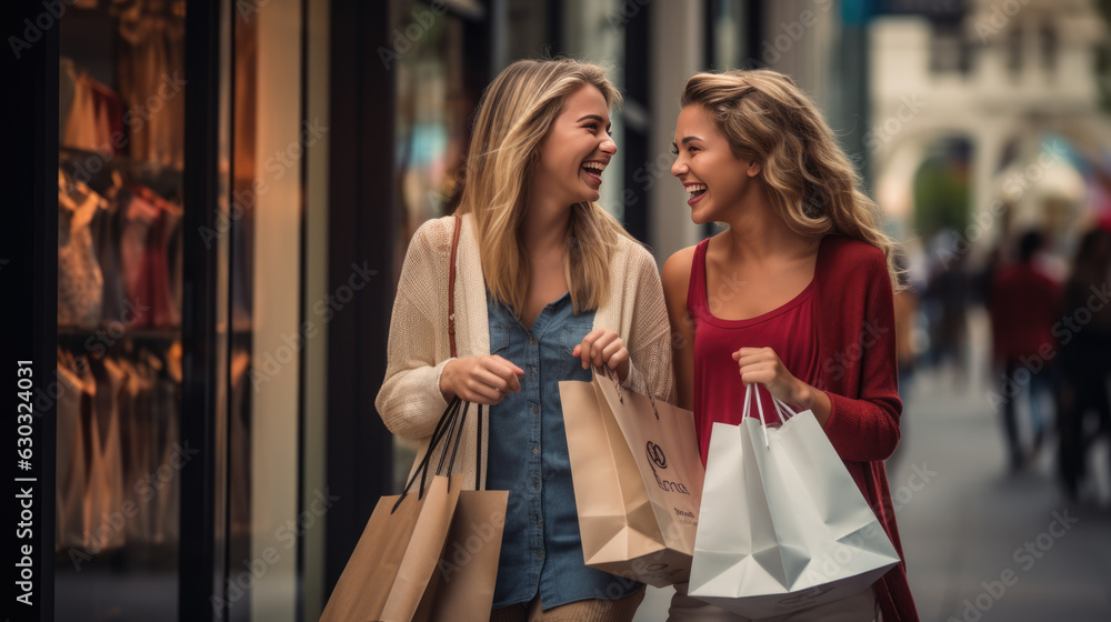
[{"label": "scoop-neck red tank top under the red cardigan", "polygon": [[[702,465],[710,450],[710,431],[715,421],[738,425],[744,410],[744,384],[740,382],[733,352],[741,348],[771,348],[795,378],[808,384],[818,381],[818,340],[814,333],[814,283],[810,282],[790,302],[749,320],[714,317],[718,297],[735,295],[727,284],[707,295],[705,249],[710,240],[694,247],[687,309],[694,319],[694,431],[698,433]],[[779,422],[771,393],[755,393],[763,404],[764,421]],[[789,404],[790,405],[790,404]],[[752,404],[750,414],[760,411]]]}]

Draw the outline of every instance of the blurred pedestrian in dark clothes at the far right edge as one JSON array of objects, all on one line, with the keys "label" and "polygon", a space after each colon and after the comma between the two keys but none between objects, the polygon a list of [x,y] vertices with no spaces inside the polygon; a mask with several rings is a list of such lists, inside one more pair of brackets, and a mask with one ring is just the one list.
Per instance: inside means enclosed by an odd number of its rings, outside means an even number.
[{"label": "blurred pedestrian in dark clothes at the far right edge", "polygon": [[[1061,340],[1061,390],[1058,430],[1058,464],[1070,499],[1075,499],[1084,480],[1088,448],[1100,435],[1111,435],[1111,404],[1108,375],[1111,373],[1111,303],[1108,302],[1111,271],[1111,233],[1092,229],[1080,240],[1077,257],[1064,284],[1064,313],[1087,317],[1088,324],[1059,330]],[[1087,313],[1077,312],[1087,309]],[[1098,433],[1085,433],[1087,418],[1095,415]]]}]

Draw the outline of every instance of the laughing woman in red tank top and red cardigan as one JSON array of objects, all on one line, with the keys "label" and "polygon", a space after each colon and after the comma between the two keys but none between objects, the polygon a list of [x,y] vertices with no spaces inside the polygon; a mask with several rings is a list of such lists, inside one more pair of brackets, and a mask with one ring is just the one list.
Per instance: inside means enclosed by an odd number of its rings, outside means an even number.
[{"label": "laughing woman in red tank top and red cardigan", "polygon": [[[671,172],[692,221],[729,225],[663,267],[679,401],[694,411],[703,461],[712,423],[738,423],[744,387],[762,384],[813,411],[901,555],[883,470],[902,411],[894,248],[875,204],[790,78],[699,73],[681,106]],[[671,620],[742,620],[684,588]],[[775,620],[879,619],[918,620],[904,564],[859,596]]]}]

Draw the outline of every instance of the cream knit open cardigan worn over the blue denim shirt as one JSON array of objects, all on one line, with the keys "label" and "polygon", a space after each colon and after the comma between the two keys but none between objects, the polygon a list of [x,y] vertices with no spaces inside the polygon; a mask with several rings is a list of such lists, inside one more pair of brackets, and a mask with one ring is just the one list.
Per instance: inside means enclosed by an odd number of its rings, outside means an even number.
[{"label": "cream knit open cardigan worn over the blue denim shirt", "polygon": [[[459,357],[490,353],[486,280],[474,239],[474,221],[463,215],[456,257],[456,345]],[[401,268],[398,294],[390,319],[389,360],[386,381],[374,405],[394,434],[420,440],[413,469],[428,451],[429,438],[448,403],[440,393],[440,373],[450,360],[448,341],[448,269],[453,217],[430,220],[413,235]],[[674,403],[671,370],[671,329],[663,302],[663,288],[652,255],[639,243],[620,237],[610,260],[613,278],[610,295],[594,312],[594,328],[605,327],[629,349],[629,377],[634,391],[651,391],[657,399]],[[557,382],[556,379],[548,380]],[[489,408],[483,408],[482,482],[489,443]],[[456,470],[466,475],[463,488],[476,488],[476,407],[470,407]],[[433,455],[432,471],[439,454]]]}]

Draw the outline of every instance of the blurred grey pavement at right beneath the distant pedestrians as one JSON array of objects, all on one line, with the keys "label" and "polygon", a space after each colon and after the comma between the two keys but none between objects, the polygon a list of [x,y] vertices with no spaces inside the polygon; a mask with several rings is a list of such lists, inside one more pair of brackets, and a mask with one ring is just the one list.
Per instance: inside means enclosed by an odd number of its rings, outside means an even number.
[{"label": "blurred grey pavement at right beneath the distant pedestrians", "polygon": [[[1007,473],[981,379],[963,391],[933,374],[915,380],[888,478],[923,622],[1111,620],[1111,510],[1065,501],[1052,443],[1025,472]],[[635,622],[667,620],[671,592],[649,588]]]}]

